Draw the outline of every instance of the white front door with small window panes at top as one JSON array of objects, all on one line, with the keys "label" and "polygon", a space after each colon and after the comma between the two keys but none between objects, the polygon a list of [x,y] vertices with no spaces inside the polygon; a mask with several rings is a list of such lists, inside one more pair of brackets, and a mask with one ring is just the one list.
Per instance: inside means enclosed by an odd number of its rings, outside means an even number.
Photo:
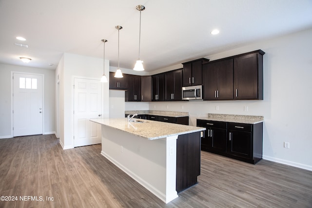
[{"label": "white front door with small window panes at top", "polygon": [[42,76],[13,73],[13,136],[42,134]]}]

